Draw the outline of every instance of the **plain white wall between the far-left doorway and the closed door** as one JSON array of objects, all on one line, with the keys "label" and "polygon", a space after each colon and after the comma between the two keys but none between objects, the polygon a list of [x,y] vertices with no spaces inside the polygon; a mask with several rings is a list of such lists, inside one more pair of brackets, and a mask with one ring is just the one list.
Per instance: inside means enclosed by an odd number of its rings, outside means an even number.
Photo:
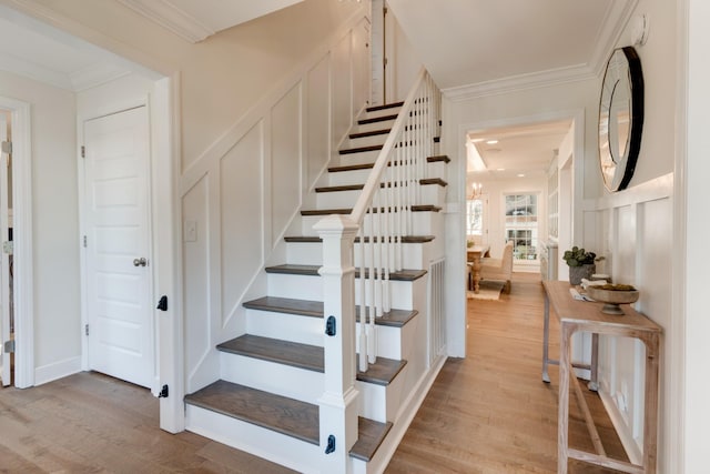
[{"label": "plain white wall between the far-left doorway and the closed door", "polygon": [[81,354],[74,94],[0,71],[0,95],[31,105],[34,372],[42,383],[75,371]]}]

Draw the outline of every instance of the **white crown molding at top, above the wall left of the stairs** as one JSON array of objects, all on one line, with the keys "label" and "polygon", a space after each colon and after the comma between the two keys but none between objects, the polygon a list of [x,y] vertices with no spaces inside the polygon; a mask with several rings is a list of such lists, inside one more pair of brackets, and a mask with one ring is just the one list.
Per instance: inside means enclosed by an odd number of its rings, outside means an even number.
[{"label": "white crown molding at top, above the wall left of the stairs", "polygon": [[165,0],[118,0],[120,3],[154,21],[191,43],[216,33],[196,18],[175,8]]}]

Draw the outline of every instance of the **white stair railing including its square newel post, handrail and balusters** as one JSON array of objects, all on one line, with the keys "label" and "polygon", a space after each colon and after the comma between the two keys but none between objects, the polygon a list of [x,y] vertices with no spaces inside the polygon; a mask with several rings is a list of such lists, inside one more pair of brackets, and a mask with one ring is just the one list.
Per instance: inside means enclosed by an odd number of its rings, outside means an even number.
[{"label": "white stair railing including its square newel post, handrail and balusters", "polygon": [[[434,154],[440,93],[422,70],[395,120],[352,212],[328,215],[314,230],[323,240],[325,324],[324,393],[318,400],[321,446],[334,436],[324,472],[344,472],[357,441],[356,303],[359,303],[359,363],[366,372],[377,357],[375,320],[392,309],[390,273],[403,270],[403,241],[418,229],[413,211],[420,202],[426,159]],[[358,269],[355,240],[358,236]],[[358,291],[355,279],[358,276]]]}]

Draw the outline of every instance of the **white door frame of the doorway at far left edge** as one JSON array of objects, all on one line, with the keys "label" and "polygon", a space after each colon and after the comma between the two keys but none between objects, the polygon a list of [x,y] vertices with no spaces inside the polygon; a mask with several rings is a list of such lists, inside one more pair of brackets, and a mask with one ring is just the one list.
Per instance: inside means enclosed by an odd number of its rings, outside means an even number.
[{"label": "white door frame of the doorway at far left edge", "polygon": [[12,221],[14,386],[34,385],[34,294],[32,276],[32,140],[30,104],[0,97],[12,127]]}]

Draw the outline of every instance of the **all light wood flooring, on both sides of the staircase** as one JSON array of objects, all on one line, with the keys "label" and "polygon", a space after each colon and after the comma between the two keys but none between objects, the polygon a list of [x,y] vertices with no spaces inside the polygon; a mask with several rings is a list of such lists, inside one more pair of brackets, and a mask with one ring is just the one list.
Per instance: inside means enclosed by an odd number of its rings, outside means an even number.
[{"label": "all light wood flooring, on both sides of the staircase", "polygon": [[[541,324],[537,275],[515,274],[500,301],[469,300],[468,357],[446,362],[386,472],[556,472],[557,369],[551,384],[541,382]],[[600,404],[590,407],[605,447],[618,454]],[[589,448],[575,409],[572,443]],[[192,433],[163,432],[158,416],[158,400],[146,390],[95,373],[0,389],[0,472],[291,472]],[[577,463],[570,472],[609,471]]]}]

